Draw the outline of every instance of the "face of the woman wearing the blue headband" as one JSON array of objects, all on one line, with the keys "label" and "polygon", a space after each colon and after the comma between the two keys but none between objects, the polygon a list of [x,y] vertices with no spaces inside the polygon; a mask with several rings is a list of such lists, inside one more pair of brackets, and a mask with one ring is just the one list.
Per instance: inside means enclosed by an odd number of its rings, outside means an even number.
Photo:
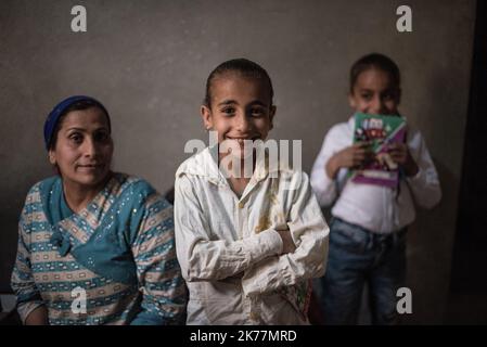
[{"label": "face of the woman wearing the blue headband", "polygon": [[108,176],[113,141],[106,115],[99,107],[72,111],[65,115],[57,140],[49,151],[67,184],[95,188]]}]

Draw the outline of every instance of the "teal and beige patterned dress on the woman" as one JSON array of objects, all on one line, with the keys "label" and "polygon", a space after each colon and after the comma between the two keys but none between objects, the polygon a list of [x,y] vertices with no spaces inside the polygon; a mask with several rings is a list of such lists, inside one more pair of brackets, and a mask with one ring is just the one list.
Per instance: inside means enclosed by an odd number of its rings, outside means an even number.
[{"label": "teal and beige patterned dress on the woman", "polygon": [[81,211],[60,177],[35,184],[18,223],[12,273],[17,311],[39,306],[50,324],[177,324],[187,290],[172,207],[146,181],[113,174]]}]

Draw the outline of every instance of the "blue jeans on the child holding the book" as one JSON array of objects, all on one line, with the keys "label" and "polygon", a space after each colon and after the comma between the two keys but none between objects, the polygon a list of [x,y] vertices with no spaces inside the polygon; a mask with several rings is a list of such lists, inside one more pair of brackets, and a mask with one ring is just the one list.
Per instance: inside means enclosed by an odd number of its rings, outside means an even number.
[{"label": "blue jeans on the child holding the book", "polygon": [[406,229],[387,235],[332,218],[324,277],[315,281],[324,324],[357,324],[369,285],[372,324],[397,324],[397,290],[406,278]]}]

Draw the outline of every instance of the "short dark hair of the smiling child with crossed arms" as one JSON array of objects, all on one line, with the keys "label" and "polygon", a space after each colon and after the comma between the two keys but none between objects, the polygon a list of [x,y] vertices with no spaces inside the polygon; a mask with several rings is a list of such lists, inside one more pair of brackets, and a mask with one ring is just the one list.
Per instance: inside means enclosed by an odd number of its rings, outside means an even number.
[{"label": "short dark hair of the smiling child with crossed arms", "polygon": [[274,90],[272,88],[272,82],[270,80],[269,74],[259,64],[254,63],[247,59],[241,57],[241,59],[232,59],[230,61],[221,63],[209,74],[208,79],[206,80],[205,100],[203,101],[205,106],[207,106],[208,108],[212,107],[212,85],[214,79],[218,78],[219,76],[226,73],[239,73],[242,74],[244,77],[262,80],[269,87],[270,102],[272,104]]}]

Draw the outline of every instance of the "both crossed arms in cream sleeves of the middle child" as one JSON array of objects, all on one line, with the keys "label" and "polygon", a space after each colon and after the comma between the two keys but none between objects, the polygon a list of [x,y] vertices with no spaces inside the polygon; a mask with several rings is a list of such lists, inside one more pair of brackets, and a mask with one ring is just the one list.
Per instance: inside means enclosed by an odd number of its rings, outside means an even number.
[{"label": "both crossed arms in cream sleeves of the middle child", "polygon": [[175,196],[176,247],[184,279],[223,280],[246,271],[242,285],[244,293],[252,295],[322,275],[329,227],[308,177],[302,177],[289,230],[268,229],[239,241],[209,240],[209,226],[192,184],[187,177],[179,178]]}]

